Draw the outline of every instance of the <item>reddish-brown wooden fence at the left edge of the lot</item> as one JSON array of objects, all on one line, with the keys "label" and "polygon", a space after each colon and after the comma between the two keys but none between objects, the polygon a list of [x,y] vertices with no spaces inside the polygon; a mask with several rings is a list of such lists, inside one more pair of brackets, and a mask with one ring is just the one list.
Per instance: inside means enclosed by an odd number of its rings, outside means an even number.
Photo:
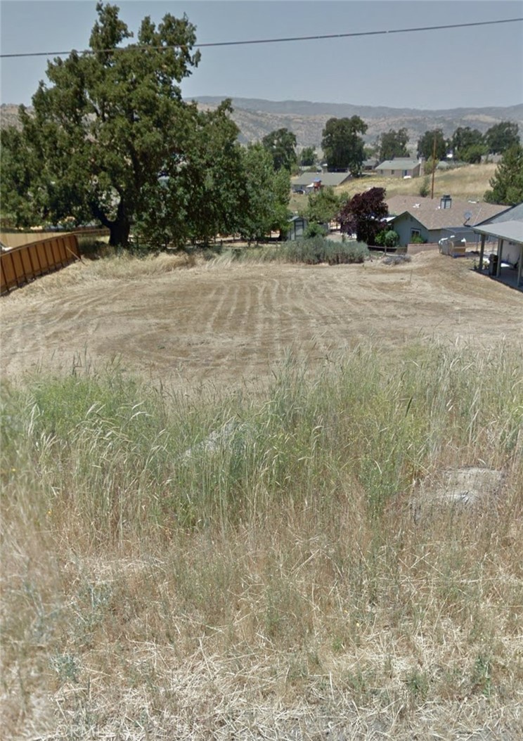
[{"label": "reddish-brown wooden fence at the left edge of the lot", "polygon": [[0,293],[7,293],[53,270],[65,268],[80,259],[75,234],[39,239],[29,245],[13,247],[0,254]]}]

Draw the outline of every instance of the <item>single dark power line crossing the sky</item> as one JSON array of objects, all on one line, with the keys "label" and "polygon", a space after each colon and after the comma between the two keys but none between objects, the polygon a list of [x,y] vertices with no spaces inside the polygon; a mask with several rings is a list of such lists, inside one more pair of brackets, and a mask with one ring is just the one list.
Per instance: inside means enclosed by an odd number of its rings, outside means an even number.
[{"label": "single dark power line crossing the sky", "polygon": [[[203,49],[208,47],[224,47],[224,46],[241,46],[247,44],[282,44],[289,41],[316,41],[318,39],[348,39],[355,36],[383,36],[387,33],[419,33],[419,31],[441,31],[448,30],[450,28],[470,28],[473,26],[493,26],[499,23],[518,23],[523,21],[523,18],[508,18],[500,21],[476,21],[472,23],[451,23],[442,26],[422,26],[419,28],[393,28],[382,31],[353,31],[351,33],[327,33],[322,36],[289,36],[285,39],[250,39],[248,41],[213,41],[208,44],[193,44],[195,49]],[[181,46],[130,46],[130,47],[113,47],[112,49],[84,49],[80,52],[70,49],[68,51],[35,51],[27,53],[16,53],[16,54],[0,54],[0,59],[7,59],[13,57],[27,57],[27,56],[64,56],[76,51],[78,54],[99,54],[99,53],[110,53],[115,51],[128,51],[130,49],[141,51],[141,50],[167,50],[174,49]]]}]

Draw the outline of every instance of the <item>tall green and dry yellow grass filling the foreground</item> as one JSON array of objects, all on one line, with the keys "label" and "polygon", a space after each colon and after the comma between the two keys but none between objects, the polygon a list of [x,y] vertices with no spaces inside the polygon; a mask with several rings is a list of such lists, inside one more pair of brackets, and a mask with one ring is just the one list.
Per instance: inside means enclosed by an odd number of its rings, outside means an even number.
[{"label": "tall green and dry yellow grass filling the foreground", "polygon": [[[197,402],[4,384],[4,731],[518,739],[521,350],[360,346]],[[496,496],[413,516],[466,465]]]}]

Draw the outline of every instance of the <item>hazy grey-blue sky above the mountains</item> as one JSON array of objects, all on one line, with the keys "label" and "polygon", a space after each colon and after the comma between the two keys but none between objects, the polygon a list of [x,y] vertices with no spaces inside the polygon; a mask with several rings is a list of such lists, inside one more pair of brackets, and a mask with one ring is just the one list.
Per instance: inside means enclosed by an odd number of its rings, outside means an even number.
[{"label": "hazy grey-blue sky above the mountains", "polygon": [[[523,17],[523,1],[187,0],[116,1],[136,32],[141,19],[187,13],[197,41],[312,36]],[[1,53],[88,46],[96,1],[1,1]],[[201,50],[184,97],[412,108],[507,106],[523,102],[523,23],[293,41]],[[1,59],[3,103],[30,104],[47,59]]]}]

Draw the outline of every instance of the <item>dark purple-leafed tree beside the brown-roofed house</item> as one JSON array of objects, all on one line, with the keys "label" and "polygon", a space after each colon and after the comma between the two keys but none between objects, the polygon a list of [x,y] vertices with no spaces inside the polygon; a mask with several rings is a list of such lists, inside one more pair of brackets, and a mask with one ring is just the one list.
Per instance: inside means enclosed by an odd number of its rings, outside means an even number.
[{"label": "dark purple-leafed tree beside the brown-roofed house", "polygon": [[376,235],[383,230],[384,219],[389,213],[384,198],[384,187],[371,187],[364,193],[355,193],[340,213],[342,232],[356,232],[359,242],[375,245]]}]

